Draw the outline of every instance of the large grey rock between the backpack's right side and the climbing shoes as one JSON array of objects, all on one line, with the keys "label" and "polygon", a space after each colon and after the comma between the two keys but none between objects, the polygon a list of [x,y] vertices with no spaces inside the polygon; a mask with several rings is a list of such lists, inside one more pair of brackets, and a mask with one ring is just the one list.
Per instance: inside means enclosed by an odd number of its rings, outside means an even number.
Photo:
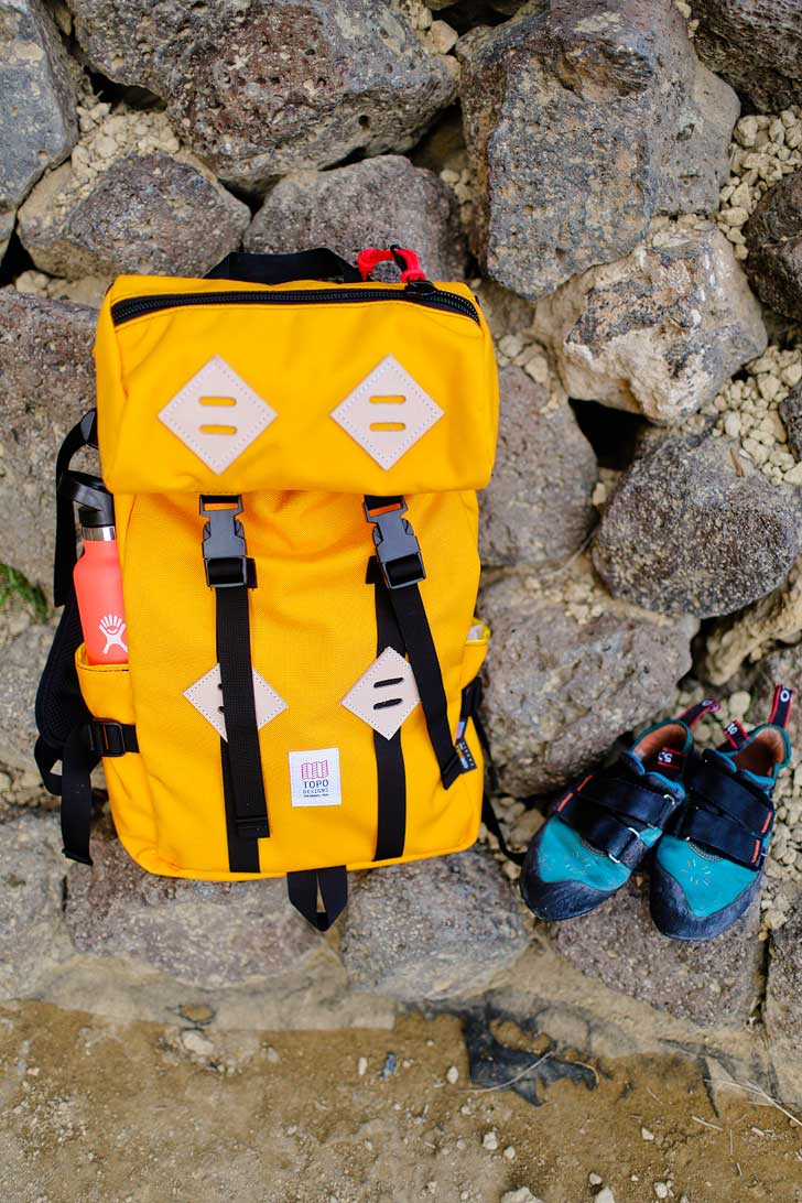
[{"label": "large grey rock between the backpack's right side and the climbing shoes", "polygon": [[485,716],[505,792],[556,790],[672,698],[696,624],[612,600],[587,562],[482,593],[493,632]]}]

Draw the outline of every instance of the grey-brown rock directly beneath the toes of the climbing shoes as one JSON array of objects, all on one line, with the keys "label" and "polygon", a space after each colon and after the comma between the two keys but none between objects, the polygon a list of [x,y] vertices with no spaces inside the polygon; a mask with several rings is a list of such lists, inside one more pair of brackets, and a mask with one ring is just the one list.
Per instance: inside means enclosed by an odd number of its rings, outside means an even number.
[{"label": "grey-brown rock directly beneath the toes of the climbing shoes", "polygon": [[666,940],[652,923],[648,889],[630,878],[610,901],[556,924],[558,952],[612,990],[701,1027],[741,1026],[759,991],[760,907],[709,943]]}]

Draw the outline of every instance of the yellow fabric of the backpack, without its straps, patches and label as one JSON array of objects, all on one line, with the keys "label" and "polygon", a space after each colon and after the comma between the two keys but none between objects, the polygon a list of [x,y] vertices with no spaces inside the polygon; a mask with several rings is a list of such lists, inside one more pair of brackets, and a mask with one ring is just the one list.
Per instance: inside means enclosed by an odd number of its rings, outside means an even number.
[{"label": "yellow fabric of the backpack, without its straps, patches and label", "polygon": [[[109,306],[120,296],[210,285],[243,288],[125,277],[100,319],[101,462],[115,493],[129,668],[89,665],[79,648],[77,670],[96,717],[137,728],[139,753],[105,761],[115,825],[129,853],[150,872],[216,881],[253,876],[228,870],[219,735],[183,697],[216,662],[198,493],[232,492],[243,497],[248,555],[257,571],[249,593],[253,664],[286,703],[260,731],[271,824],[269,837],[259,842],[261,873],[370,867],[378,864],[374,733],[340,705],[378,652],[374,587],[366,583],[372,528],[361,494],[406,496],[427,570],[421,595],[456,733],[461,691],[487,650],[487,629],[473,618],[480,567],[473,485],[486,479],[495,440],[489,336],[483,321],[477,326],[462,315],[392,303],[298,307],[289,325],[283,307],[255,310],[261,315],[255,326],[251,310],[236,306],[236,320],[203,307],[112,326]],[[464,286],[444,288],[469,296]],[[351,342],[337,342],[345,338]],[[323,348],[337,354],[327,357]],[[279,414],[220,475],[156,416],[214,354]],[[387,470],[328,417],[386,354],[420,379],[447,416]],[[319,444],[311,454],[310,440]],[[427,487],[412,487],[416,482]],[[467,739],[477,770],[445,790],[422,709],[403,724],[408,800],[400,859],[474,842],[482,765],[473,724]],[[293,806],[290,752],[332,747],[339,749],[341,805]]]}]

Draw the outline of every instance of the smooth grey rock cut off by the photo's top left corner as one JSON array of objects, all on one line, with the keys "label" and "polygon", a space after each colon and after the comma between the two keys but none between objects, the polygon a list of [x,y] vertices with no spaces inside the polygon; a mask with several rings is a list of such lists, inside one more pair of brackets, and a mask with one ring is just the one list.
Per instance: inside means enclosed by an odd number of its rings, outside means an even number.
[{"label": "smooth grey rock cut off by the photo's top left corner", "polygon": [[41,0],[0,0],[0,257],[14,211],[78,137],[67,57]]}]

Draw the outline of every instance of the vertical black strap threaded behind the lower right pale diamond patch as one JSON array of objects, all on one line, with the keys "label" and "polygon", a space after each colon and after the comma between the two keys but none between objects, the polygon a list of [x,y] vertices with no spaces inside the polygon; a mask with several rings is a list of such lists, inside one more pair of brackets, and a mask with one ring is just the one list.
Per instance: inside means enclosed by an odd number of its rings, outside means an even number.
[{"label": "vertical black strap threaded behind the lower right pale diamond patch", "polygon": [[[388,589],[375,556],[368,561],[367,583],[375,589],[376,656],[386,647],[404,654],[404,639],[390,604]],[[390,739],[373,733],[376,754],[378,812],[374,860],[394,860],[404,854],[406,837],[406,771],[402,751],[400,728]]]}]

